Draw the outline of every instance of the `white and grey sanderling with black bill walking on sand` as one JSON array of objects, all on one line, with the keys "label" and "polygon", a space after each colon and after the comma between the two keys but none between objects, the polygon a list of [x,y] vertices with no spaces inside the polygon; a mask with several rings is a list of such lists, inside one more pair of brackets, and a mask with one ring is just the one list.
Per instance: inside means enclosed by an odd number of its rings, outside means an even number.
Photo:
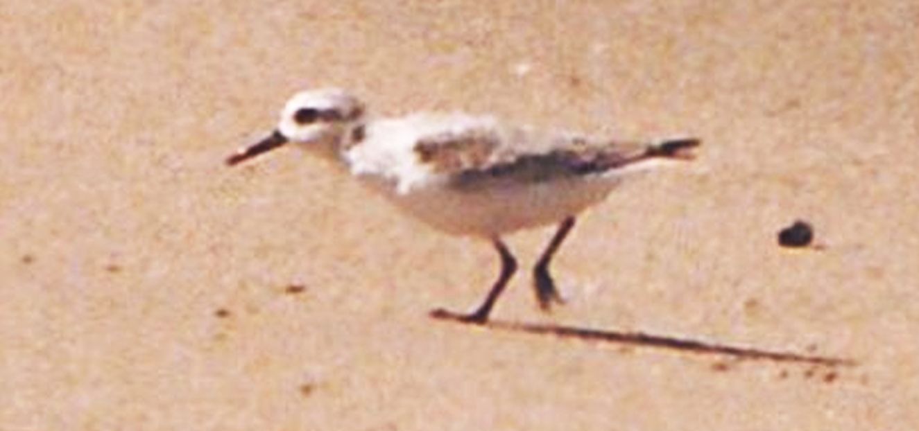
[{"label": "white and grey sanderling with black bill walking on sand", "polygon": [[605,198],[626,173],[653,162],[692,158],[699,144],[693,138],[626,142],[543,133],[463,113],[371,119],[355,96],[326,88],[290,98],[277,128],[226,162],[239,164],[288,142],[335,161],[441,231],[491,241],[501,272],[482,304],[469,314],[432,312],[469,323],[487,321],[516,272],[503,235],[558,225],[533,267],[537,301],[548,310],[552,302],[562,303],[550,261],[577,215]]}]

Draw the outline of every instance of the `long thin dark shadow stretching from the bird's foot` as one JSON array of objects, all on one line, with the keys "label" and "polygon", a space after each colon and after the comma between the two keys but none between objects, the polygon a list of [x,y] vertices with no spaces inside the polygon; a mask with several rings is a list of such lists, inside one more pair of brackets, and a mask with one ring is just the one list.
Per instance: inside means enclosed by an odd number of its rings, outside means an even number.
[{"label": "long thin dark shadow stretching from the bird's foot", "polygon": [[482,328],[498,331],[535,335],[554,335],[561,338],[577,339],[586,342],[653,347],[696,355],[720,355],[735,357],[737,359],[767,360],[772,362],[800,363],[826,367],[857,366],[855,360],[844,357],[824,357],[790,351],[766,350],[749,346],[731,346],[667,335],[608,331],[553,323],[518,323],[494,320],[485,323],[468,323],[450,316],[435,315],[433,317],[437,320],[473,324]]}]

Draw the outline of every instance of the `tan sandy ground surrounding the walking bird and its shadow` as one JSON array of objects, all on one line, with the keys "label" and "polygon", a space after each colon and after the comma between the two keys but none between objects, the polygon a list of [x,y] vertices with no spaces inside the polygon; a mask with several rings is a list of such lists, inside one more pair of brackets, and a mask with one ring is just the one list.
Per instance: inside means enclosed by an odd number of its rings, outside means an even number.
[{"label": "tan sandy ground surrounding the walking bird and its shadow", "polygon": [[[0,429],[919,428],[919,3],[865,5],[4,1]],[[564,307],[523,272],[494,318],[857,365],[428,318],[490,247],[301,153],[222,164],[324,85],[701,137],[581,219]]]}]

